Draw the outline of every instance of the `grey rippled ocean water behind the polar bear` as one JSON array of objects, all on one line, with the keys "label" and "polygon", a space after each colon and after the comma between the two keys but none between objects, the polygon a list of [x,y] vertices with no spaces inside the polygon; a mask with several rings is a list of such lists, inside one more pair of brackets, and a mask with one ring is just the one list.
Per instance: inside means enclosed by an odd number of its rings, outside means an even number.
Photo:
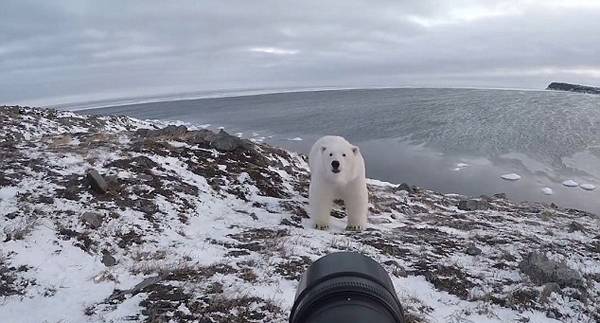
[{"label": "grey rippled ocean water behind the polar bear", "polygon": [[[82,112],[224,127],[302,153],[322,135],[341,135],[360,146],[371,178],[469,196],[504,192],[514,200],[554,202],[600,214],[600,96],[495,89],[351,89],[163,101]],[[521,179],[501,178],[511,173]],[[567,180],[599,188],[567,187],[563,185]]]}]

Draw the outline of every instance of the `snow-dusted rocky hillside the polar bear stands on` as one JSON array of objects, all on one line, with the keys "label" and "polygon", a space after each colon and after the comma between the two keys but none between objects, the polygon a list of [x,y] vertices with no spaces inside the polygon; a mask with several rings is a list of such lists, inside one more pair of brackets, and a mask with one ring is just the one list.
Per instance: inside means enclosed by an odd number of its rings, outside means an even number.
[{"label": "snow-dusted rocky hillside the polar bear stands on", "polygon": [[[225,132],[0,107],[2,322],[285,322],[319,257],[390,273],[409,322],[600,321],[600,219],[370,181],[306,213],[303,156]],[[368,162],[368,161],[367,161]]]}]

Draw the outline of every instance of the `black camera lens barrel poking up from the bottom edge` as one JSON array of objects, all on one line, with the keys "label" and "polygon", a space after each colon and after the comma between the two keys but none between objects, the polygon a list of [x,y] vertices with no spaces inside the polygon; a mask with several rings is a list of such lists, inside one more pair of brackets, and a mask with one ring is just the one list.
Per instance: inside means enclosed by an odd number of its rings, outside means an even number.
[{"label": "black camera lens barrel poking up from the bottom edge", "polygon": [[403,323],[392,280],[375,260],[338,252],[315,261],[302,276],[290,323]]}]

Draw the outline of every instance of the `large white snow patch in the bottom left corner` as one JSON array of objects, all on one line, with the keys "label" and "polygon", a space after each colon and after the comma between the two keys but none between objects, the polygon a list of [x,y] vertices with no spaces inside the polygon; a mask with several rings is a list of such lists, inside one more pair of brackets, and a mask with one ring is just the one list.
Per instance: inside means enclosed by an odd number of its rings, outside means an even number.
[{"label": "large white snow patch in the bottom left corner", "polygon": [[[111,282],[95,283],[92,274],[104,270],[104,265],[81,249],[61,243],[50,226],[40,225],[24,245],[4,244],[5,252],[16,254],[14,263],[35,268],[36,290],[41,292],[30,292],[21,299],[5,299],[0,306],[0,317],[7,319],[6,322],[60,322],[65,318],[72,322],[87,321],[81,309],[102,301],[115,288]],[[60,253],[56,253],[58,249]],[[55,294],[45,297],[44,291]]]}]

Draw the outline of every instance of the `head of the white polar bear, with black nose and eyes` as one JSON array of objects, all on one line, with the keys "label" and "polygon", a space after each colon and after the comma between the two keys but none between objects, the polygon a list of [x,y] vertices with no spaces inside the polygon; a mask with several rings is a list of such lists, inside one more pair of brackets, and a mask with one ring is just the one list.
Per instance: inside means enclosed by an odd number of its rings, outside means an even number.
[{"label": "head of the white polar bear, with black nose and eyes", "polygon": [[345,184],[358,176],[360,151],[349,143],[320,147],[321,167],[325,178]]}]

